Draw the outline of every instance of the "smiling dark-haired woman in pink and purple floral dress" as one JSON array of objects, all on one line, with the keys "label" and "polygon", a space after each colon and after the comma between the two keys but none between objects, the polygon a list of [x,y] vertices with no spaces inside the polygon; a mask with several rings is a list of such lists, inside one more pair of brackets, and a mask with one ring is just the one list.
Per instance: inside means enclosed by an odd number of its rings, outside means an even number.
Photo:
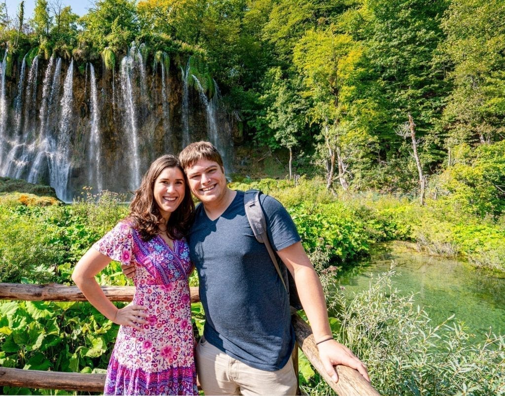
[{"label": "smiling dark-haired woman in pink and purple floral dress", "polygon": [[[129,216],[74,269],[72,279],[88,301],[121,325],[104,394],[197,394],[187,280],[193,268],[184,238],[193,214],[177,158],[160,157],[135,191]],[[112,260],[136,268],[133,302],[122,309],[94,278]]]}]

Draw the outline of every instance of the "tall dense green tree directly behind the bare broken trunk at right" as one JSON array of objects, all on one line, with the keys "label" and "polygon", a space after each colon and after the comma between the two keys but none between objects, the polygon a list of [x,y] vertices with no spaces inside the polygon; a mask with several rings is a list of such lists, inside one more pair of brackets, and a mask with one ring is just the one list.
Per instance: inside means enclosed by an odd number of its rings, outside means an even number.
[{"label": "tall dense green tree directly behind the bare broken trunk at right", "polygon": [[360,10],[364,55],[360,66],[367,70],[360,96],[373,102],[383,117],[370,131],[379,139],[382,159],[398,155],[402,142],[395,131],[409,113],[416,120],[418,136],[432,142],[420,153],[424,162],[438,163],[443,158],[435,125],[449,85],[444,70],[434,65],[444,38],[440,20],[447,4],[446,0],[367,0]]}]

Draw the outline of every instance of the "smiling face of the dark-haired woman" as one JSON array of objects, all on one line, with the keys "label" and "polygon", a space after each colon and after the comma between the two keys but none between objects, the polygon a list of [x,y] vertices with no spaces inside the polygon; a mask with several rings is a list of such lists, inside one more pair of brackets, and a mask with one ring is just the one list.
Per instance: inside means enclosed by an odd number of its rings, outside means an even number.
[{"label": "smiling face of the dark-haired woman", "polygon": [[184,199],[184,189],[184,175],[177,167],[165,168],[155,180],[154,198],[166,221]]}]

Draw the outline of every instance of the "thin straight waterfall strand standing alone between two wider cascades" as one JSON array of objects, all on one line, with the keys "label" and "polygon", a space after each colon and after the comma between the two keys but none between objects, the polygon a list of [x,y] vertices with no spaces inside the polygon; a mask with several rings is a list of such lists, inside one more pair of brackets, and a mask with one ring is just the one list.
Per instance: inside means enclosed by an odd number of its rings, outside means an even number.
[{"label": "thin straight waterfall strand standing alone between two wider cascades", "polygon": [[[102,143],[102,138],[100,137],[100,130],[99,130],[99,114],[98,114],[98,95],[96,93],[96,78],[94,74],[94,67],[90,63],[89,64],[89,92],[91,95],[91,131],[89,133],[89,165],[92,164],[94,167],[94,180],[95,180],[95,185],[98,190],[98,192],[103,190],[103,176],[102,176],[102,171],[103,169],[100,169],[101,166],[101,159],[102,159],[102,153],[101,153],[101,143]],[[93,177],[93,172],[89,172],[89,180],[90,184],[92,183],[92,177]]]}]

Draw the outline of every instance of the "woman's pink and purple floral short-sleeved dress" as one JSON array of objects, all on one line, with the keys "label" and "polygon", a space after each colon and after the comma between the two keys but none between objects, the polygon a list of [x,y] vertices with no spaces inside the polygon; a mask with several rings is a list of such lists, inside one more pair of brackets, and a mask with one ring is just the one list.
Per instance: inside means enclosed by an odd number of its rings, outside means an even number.
[{"label": "woman's pink and purple floral short-sleeved dress", "polygon": [[175,240],[172,251],[161,236],[144,242],[120,222],[93,248],[135,265],[133,303],[146,307],[148,315],[142,331],[120,326],[104,394],[198,394],[186,240]]}]

